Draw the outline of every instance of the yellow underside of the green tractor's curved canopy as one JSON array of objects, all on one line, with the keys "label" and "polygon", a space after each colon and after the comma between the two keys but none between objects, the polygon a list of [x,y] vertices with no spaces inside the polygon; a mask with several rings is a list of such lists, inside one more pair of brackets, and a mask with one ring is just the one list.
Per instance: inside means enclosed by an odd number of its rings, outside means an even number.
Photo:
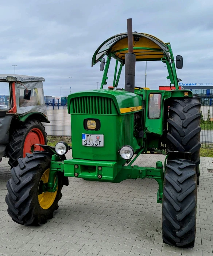
[{"label": "yellow underside of the green tractor's curved canopy", "polygon": [[[150,35],[149,35],[150,36]],[[153,37],[154,38],[154,37]],[[162,49],[155,44],[155,42],[151,41],[150,39],[146,37],[141,37],[139,38],[138,42],[134,41],[133,37],[133,47],[144,47],[144,48],[153,48],[159,51],[153,51],[153,50],[146,50],[146,49],[134,49],[134,53],[136,55],[136,59],[160,59],[163,57],[163,52]],[[111,52],[116,52],[122,49],[128,48],[128,39],[123,38],[119,40],[115,45],[113,45]],[[119,59],[124,60],[125,59],[125,53],[127,53],[128,50],[126,51],[119,51],[116,52],[115,55],[119,57]]]}]

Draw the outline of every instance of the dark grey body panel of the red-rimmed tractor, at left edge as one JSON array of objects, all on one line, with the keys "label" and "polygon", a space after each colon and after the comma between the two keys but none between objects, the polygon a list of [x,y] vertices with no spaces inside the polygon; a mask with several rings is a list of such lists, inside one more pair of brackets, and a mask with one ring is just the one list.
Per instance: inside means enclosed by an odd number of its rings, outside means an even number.
[{"label": "dark grey body panel of the red-rimmed tractor, at left edge", "polygon": [[12,120],[12,115],[0,114],[0,162],[6,154],[6,146],[9,143],[9,127]]}]

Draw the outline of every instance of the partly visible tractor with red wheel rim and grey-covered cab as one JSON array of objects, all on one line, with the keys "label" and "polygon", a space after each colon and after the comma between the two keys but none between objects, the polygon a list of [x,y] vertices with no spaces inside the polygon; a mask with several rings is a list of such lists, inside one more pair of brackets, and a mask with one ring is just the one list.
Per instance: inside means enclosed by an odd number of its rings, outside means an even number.
[{"label": "partly visible tractor with red wheel rim and grey-covered cab", "polygon": [[47,143],[43,81],[43,77],[0,75],[0,162],[9,157],[11,168],[26,153],[41,151],[36,144]]}]

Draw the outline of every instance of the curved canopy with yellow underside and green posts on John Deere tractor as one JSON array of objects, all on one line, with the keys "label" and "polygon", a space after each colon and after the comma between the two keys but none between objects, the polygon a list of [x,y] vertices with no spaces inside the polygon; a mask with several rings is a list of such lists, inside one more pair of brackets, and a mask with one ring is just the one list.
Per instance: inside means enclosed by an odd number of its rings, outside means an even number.
[{"label": "curved canopy with yellow underside and green posts on John Deere tractor", "polygon": [[[175,59],[171,49],[170,43],[164,43],[159,38],[146,33],[133,32],[133,53],[135,53],[136,62],[140,61],[155,61],[160,60],[167,66],[168,77],[170,84],[174,85],[178,90],[178,82],[175,69]],[[115,76],[113,86],[117,87],[122,67],[125,65],[125,54],[128,53],[128,37],[127,33],[117,34],[104,41],[95,51],[92,57],[92,66],[101,62],[100,70],[104,70],[101,89],[107,84],[107,73],[109,64],[112,58],[116,59]],[[107,56],[105,62],[104,56]],[[177,65],[177,62],[179,64]],[[106,63],[106,66],[105,66]],[[119,71],[117,73],[117,65],[120,63]],[[104,69],[105,66],[105,69]],[[176,59],[177,68],[182,68],[182,56],[178,55]],[[117,78],[116,78],[117,76]]]}]

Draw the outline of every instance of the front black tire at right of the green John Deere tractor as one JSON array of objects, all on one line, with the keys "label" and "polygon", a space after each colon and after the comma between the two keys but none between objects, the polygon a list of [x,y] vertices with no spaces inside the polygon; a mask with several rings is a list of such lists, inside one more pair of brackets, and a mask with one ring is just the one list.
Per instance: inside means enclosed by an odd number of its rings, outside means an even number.
[{"label": "front black tire at right of the green John Deere tractor", "polygon": [[196,231],[197,180],[195,163],[168,160],[162,201],[163,242],[177,247],[194,247]]}]

